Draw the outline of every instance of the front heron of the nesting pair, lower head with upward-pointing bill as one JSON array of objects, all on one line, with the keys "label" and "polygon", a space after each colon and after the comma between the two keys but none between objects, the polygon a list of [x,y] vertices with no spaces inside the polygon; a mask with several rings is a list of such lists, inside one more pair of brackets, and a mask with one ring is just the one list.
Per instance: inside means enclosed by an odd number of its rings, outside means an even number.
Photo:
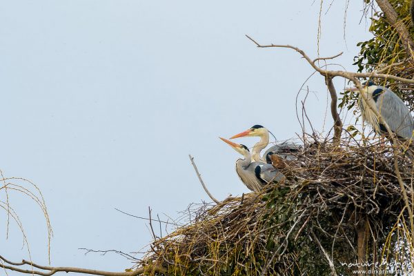
[{"label": "front heron of the nesting pair, lower head with upward-pointing bill", "polygon": [[262,190],[263,186],[269,182],[277,182],[284,179],[282,172],[279,172],[272,165],[263,162],[252,162],[250,151],[246,146],[233,143],[228,139],[219,138],[244,156],[244,159],[236,161],[236,172],[240,180],[250,190],[257,192]]}]

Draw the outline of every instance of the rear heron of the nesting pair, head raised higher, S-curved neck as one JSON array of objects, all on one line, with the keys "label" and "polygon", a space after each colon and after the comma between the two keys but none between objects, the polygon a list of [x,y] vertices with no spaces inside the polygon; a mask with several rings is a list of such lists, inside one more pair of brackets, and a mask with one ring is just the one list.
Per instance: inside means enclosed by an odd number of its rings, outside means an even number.
[{"label": "rear heron of the nesting pair, head raised higher, S-curved neck", "polygon": [[252,150],[252,159],[253,161],[262,161],[269,163],[268,154],[269,152],[275,153],[277,156],[281,157],[282,159],[286,160],[295,160],[297,159],[295,155],[293,155],[294,152],[299,151],[299,146],[293,141],[283,141],[277,143],[275,146],[272,146],[271,148],[268,148],[266,152],[264,152],[263,157],[260,156],[260,152],[266,148],[269,144],[269,130],[267,128],[264,128],[264,126],[255,125],[249,128],[248,130],[244,132],[240,132],[237,135],[234,135],[233,137],[230,137],[230,139],[235,139],[238,137],[247,137],[247,136],[258,136],[260,137],[260,141],[258,141],[255,146],[253,146]]}]

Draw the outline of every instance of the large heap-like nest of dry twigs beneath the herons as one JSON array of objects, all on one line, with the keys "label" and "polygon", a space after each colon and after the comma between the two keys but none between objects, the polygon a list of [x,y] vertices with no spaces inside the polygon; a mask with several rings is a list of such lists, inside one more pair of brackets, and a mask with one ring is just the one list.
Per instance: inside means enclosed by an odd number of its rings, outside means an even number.
[{"label": "large heap-like nest of dry twigs beneath the herons", "polygon": [[155,240],[139,266],[157,264],[168,275],[348,275],[364,249],[367,262],[382,262],[377,268],[404,261],[411,269],[400,185],[411,206],[413,164],[404,149],[395,163],[395,148],[377,140],[308,140],[284,181],[195,210],[187,226]]}]

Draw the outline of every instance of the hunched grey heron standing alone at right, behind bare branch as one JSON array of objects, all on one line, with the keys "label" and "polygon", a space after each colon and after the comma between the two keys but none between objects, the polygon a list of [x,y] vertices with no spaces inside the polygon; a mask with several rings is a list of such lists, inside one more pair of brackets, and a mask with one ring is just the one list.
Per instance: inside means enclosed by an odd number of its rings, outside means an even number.
[{"label": "hunched grey heron standing alone at right, behind bare branch", "polygon": [[[372,81],[362,83],[364,89],[359,93],[359,108],[361,108],[362,117],[370,124],[377,134],[386,134],[387,130],[375,115],[373,110],[367,106],[366,101],[371,101],[377,108],[382,119],[388,124],[393,132],[400,139],[411,139],[414,130],[414,119],[410,110],[395,93],[384,86],[377,86]],[[351,88],[357,91],[358,88]]]}]

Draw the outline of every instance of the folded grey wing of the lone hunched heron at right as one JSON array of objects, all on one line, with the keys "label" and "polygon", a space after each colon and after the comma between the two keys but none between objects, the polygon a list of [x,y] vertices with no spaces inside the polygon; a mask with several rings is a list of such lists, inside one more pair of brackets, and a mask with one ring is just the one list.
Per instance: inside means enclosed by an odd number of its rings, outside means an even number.
[{"label": "folded grey wing of the lone hunched heron at right", "polygon": [[388,88],[377,99],[377,108],[386,124],[398,136],[405,139],[411,139],[414,130],[414,119],[405,105],[400,99]]}]

